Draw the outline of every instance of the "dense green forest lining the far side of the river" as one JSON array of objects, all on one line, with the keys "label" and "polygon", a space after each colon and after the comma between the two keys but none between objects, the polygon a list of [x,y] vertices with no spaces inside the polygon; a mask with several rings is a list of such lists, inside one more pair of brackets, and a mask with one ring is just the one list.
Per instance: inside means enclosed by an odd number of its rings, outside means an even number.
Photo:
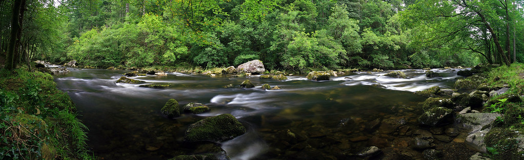
[{"label": "dense green forest lining the far side of the river", "polygon": [[515,0],[0,4],[0,51],[15,64],[211,68],[260,59],[271,70],[307,72],[524,61],[524,2]]}]

